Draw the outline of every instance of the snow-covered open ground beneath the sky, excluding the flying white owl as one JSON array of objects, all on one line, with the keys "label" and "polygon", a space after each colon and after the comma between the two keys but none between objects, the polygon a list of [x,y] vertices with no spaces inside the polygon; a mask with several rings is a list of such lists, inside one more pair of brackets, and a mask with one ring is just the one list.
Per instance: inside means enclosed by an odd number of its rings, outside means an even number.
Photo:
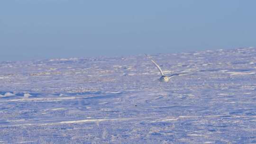
[{"label": "snow-covered open ground beneath the sky, excluding the flying white owl", "polygon": [[256,48],[0,63],[0,144],[254,144]]}]

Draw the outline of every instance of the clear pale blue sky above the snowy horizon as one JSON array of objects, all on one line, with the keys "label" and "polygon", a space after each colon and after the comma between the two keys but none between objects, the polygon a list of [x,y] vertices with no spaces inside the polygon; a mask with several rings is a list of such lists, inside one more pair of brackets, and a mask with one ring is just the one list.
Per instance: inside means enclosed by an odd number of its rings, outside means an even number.
[{"label": "clear pale blue sky above the snowy horizon", "polygon": [[1,0],[0,61],[256,46],[255,0]]}]

